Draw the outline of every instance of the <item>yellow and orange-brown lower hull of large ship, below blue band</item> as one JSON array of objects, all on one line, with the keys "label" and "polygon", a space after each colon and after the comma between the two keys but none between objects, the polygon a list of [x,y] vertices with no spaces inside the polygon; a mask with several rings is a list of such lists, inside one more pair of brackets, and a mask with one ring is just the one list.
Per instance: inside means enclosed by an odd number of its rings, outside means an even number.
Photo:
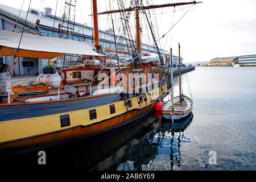
[{"label": "yellow and orange-brown lower hull of large ship, below blue band", "polygon": [[[0,150],[41,146],[101,133],[144,115],[154,108],[155,100],[166,92],[167,88],[164,84],[162,88],[150,92],[151,99],[146,94],[146,102],[143,100],[139,104],[137,97],[129,98],[131,107],[126,106],[125,101],[118,101],[66,113],[1,121]],[[115,112],[112,114],[110,105],[115,107]],[[92,119],[89,111],[94,109],[96,118]],[[60,116],[62,115],[69,115],[69,126],[61,127]]]}]

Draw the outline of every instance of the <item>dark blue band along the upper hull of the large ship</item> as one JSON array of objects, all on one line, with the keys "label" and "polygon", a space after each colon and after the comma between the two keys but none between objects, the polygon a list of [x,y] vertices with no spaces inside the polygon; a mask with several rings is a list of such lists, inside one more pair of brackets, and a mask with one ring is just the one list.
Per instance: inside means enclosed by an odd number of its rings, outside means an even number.
[{"label": "dark blue band along the upper hull of the large ship", "polygon": [[121,101],[119,93],[61,102],[0,106],[0,121],[10,121],[14,119],[66,113],[70,111],[112,104],[118,101]]}]

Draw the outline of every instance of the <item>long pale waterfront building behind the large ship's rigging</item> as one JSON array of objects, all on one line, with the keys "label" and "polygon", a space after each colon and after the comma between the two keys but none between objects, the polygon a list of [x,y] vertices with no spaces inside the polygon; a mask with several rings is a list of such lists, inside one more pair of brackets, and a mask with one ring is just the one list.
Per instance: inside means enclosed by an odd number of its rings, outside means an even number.
[{"label": "long pale waterfront building behind the large ship's rigging", "polygon": [[[59,26],[63,27],[73,27],[73,32],[68,39],[83,41],[83,42],[93,42],[93,28],[86,26],[86,24],[81,24],[77,22],[72,22],[64,17],[58,17],[51,14],[51,8],[44,8],[43,12],[39,12],[36,9],[30,9],[28,11],[27,21],[24,27],[24,32],[27,34],[36,34],[42,36],[51,36],[55,38],[63,38]],[[22,32],[27,11],[20,11],[13,7],[5,6],[0,4],[0,30],[13,31],[16,24],[15,32]],[[40,20],[40,23],[37,21]],[[100,44],[105,49],[115,49],[115,42],[117,42],[118,51],[127,51],[125,38],[123,36],[113,34],[113,29],[106,31],[99,31]],[[135,43],[135,41],[134,41]],[[154,46],[150,46],[142,43],[142,52],[155,52],[156,49]],[[170,60],[170,52],[164,49],[160,49],[164,61]],[[115,56],[115,52],[106,52],[107,55]],[[116,57],[116,56],[115,56]],[[119,59],[129,59],[126,54],[118,54]],[[57,57],[51,61],[45,59],[32,59],[30,57],[19,57],[18,67],[15,68],[16,75],[26,75],[28,72],[32,71],[35,67],[39,67],[39,71],[36,75],[43,73],[43,68],[47,65],[46,63],[52,63],[57,59],[57,67],[68,67],[68,65],[74,65],[77,63],[76,57],[66,56],[65,61],[63,57]],[[9,56],[0,56],[0,64],[8,64],[10,60]],[[179,65],[178,56],[172,56],[173,64]],[[182,64],[181,58],[181,64]]]}]

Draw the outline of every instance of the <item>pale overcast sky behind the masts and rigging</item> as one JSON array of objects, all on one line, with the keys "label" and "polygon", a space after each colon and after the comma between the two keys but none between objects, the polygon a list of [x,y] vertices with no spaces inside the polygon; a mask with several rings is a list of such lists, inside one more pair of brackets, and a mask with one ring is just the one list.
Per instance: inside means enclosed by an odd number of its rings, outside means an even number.
[{"label": "pale overcast sky behind the masts and rigging", "polygon": [[[116,1],[116,0],[114,0]],[[196,6],[168,7],[155,10],[158,35],[161,37],[181,16],[179,23],[163,39],[160,47],[178,53],[181,45],[181,56],[186,62],[209,61],[214,57],[240,56],[256,54],[256,1],[255,0],[202,0]],[[20,9],[22,0],[0,0],[3,5]],[[27,10],[30,0],[25,0],[23,10]],[[59,0],[58,3],[64,2]],[[113,1],[111,1],[113,2]],[[173,0],[143,0],[155,4],[172,2],[189,2]],[[106,10],[109,0],[98,0],[98,11]],[[41,5],[41,6],[40,6]],[[42,10],[51,7],[55,14],[56,0],[32,0],[31,7]],[[58,6],[60,9],[60,6]],[[77,0],[76,22],[91,24],[90,0]],[[151,11],[152,13],[152,11]],[[57,9],[57,15],[60,15]],[[152,14],[151,14],[152,15]],[[100,28],[105,30],[106,16],[100,16]],[[102,24],[104,24],[102,26]],[[156,30],[156,28],[154,28]],[[146,31],[142,29],[142,32]],[[156,36],[158,36],[156,35]],[[146,36],[142,38],[145,43]]]}]

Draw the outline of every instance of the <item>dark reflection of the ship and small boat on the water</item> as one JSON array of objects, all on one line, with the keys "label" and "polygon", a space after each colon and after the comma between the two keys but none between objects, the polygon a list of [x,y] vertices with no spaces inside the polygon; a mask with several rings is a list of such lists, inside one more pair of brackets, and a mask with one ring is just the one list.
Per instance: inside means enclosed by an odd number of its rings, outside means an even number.
[{"label": "dark reflection of the ship and small boat on the water", "polygon": [[[43,170],[169,170],[174,160],[180,165],[180,140],[183,135],[179,134],[179,156],[174,159],[175,133],[184,131],[193,115],[174,124],[160,117],[161,114],[152,112],[129,125],[95,137],[47,148],[44,150],[47,165],[37,163],[38,151],[7,158],[1,163],[5,164],[5,169],[25,168],[26,164],[28,169]],[[164,142],[169,142],[170,146],[170,136],[171,151],[170,147],[164,147]],[[161,159],[163,148],[164,153],[170,155],[171,165],[169,159]],[[167,163],[169,167],[161,167],[160,163]]]}]

